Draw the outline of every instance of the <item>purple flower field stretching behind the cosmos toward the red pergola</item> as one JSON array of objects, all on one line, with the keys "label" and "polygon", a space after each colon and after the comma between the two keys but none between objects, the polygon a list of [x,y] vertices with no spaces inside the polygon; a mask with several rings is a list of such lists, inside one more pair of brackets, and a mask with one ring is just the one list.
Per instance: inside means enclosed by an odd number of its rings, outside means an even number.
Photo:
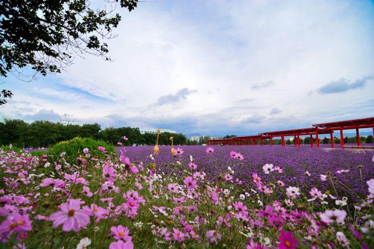
[{"label": "purple flower field stretching behind the cosmos toward the red pergola", "polygon": [[[324,144],[329,145],[329,144]],[[279,177],[287,186],[299,186],[301,189],[309,189],[310,186],[321,186],[323,189],[330,189],[330,181],[321,181],[320,175],[327,175],[331,172],[332,177],[337,177],[346,185],[345,190],[340,190],[341,194],[350,196],[352,189],[358,194],[365,193],[363,184],[361,182],[360,168],[362,180],[365,183],[367,180],[374,177],[374,150],[359,150],[359,149],[330,149],[330,148],[311,148],[308,145],[295,148],[293,145],[285,147],[281,146],[211,146],[214,152],[207,154],[205,149],[207,146],[190,145],[180,146],[184,153],[181,156],[174,157],[170,150],[170,146],[159,146],[160,153],[154,156],[154,162],[163,171],[170,172],[176,167],[188,168],[190,155],[197,165],[198,170],[202,170],[207,174],[209,180],[217,180],[227,172],[227,167],[230,166],[234,171],[234,179],[239,178],[244,184],[251,186],[252,173],[258,173],[263,179],[271,180],[271,176],[264,174],[262,166],[266,163],[271,163],[274,166],[279,166],[284,169],[284,173],[278,174]],[[143,161],[151,163],[152,159],[149,157],[153,153],[153,146],[139,146],[139,147],[118,147],[117,151],[120,153],[121,149],[127,150],[126,155],[132,161]],[[235,150],[240,152],[244,159],[242,161],[233,160],[230,158],[229,152]],[[177,161],[180,161],[182,166],[178,166]],[[176,165],[170,165],[170,162]],[[349,169],[346,173],[337,173],[338,170]],[[310,176],[306,174],[310,173]],[[255,188],[253,186],[253,188]],[[349,189],[348,189],[349,188]],[[338,193],[339,194],[339,193]]]}]

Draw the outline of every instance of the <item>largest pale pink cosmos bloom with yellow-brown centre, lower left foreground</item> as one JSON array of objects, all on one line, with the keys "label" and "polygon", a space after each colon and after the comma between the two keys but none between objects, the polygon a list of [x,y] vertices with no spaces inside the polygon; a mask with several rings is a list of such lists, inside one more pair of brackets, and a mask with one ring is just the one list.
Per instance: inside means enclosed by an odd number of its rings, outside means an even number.
[{"label": "largest pale pink cosmos bloom with yellow-brown centre, lower left foreground", "polygon": [[53,228],[62,224],[62,231],[78,232],[90,222],[89,215],[80,208],[78,200],[71,199],[69,203],[61,204],[60,210],[49,216],[49,220],[53,221]]}]

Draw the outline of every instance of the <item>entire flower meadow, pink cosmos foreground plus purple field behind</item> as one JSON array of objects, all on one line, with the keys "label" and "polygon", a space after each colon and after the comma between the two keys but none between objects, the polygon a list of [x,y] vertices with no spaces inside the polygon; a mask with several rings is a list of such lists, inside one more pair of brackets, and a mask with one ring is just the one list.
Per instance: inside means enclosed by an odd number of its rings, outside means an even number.
[{"label": "entire flower meadow, pink cosmos foreground plus purple field behind", "polygon": [[374,247],[370,150],[52,151],[0,149],[2,248]]}]

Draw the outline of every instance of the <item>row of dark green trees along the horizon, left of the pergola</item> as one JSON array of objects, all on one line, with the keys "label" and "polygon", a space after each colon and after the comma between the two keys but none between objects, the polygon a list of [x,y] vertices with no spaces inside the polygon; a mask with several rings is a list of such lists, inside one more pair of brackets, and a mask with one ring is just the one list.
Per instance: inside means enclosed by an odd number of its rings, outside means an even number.
[{"label": "row of dark green trees along the horizon, left of the pergola", "polygon": [[[27,124],[22,120],[5,120],[0,123],[0,144],[12,144],[17,147],[51,147],[60,141],[70,140],[74,137],[91,137],[101,139],[117,145],[120,137],[126,136],[123,145],[153,145],[157,134],[141,134],[139,128],[134,127],[107,127],[101,129],[99,124],[63,125],[46,121],[35,121]],[[183,145],[187,138],[182,133],[163,132],[159,136],[159,144],[171,144],[170,137],[174,137],[174,144]]]}]

